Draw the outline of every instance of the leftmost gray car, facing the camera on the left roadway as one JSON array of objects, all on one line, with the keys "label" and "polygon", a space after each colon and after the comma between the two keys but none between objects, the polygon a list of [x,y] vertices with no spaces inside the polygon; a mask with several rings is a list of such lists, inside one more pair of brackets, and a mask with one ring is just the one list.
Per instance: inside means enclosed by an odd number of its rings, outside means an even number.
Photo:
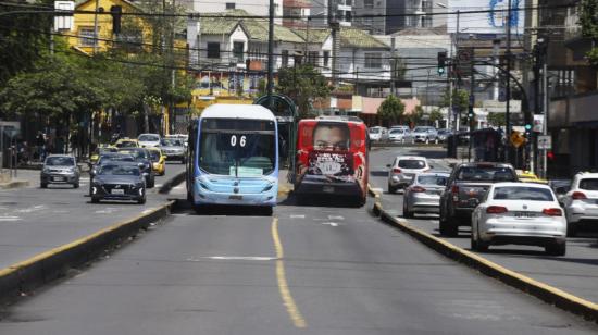
[{"label": "leftmost gray car, facing the camera on the left roadway", "polygon": [[79,177],[80,171],[74,157],[50,154],[43,161],[39,183],[41,188],[48,187],[48,184],[71,184],[78,188]]}]

